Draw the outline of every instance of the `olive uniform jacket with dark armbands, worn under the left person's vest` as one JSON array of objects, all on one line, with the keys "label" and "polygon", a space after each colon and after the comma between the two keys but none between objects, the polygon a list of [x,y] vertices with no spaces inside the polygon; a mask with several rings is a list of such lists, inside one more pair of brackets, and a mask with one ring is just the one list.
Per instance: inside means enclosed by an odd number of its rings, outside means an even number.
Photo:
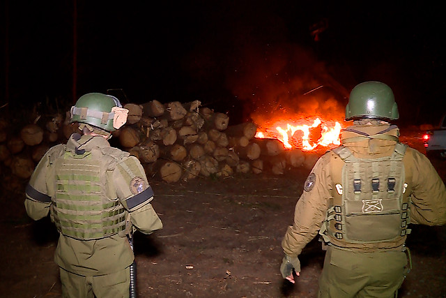
[{"label": "olive uniform jacket with dark armbands, worn under the left person's vest", "polygon": [[[66,145],[59,144],[47,151],[26,187],[24,202],[27,214],[38,220],[50,214],[55,204],[54,166],[66,151],[100,151],[101,161],[114,161],[112,170],[107,170],[100,177],[105,181],[102,191],[112,202],[119,202],[125,208],[126,217],[134,228],[150,234],[162,228],[160,218],[155,213],[151,200],[153,191],[149,186],[141,163],[125,151],[110,147],[104,137],[73,134]],[[110,156],[113,156],[112,158]],[[134,181],[139,181],[134,185]],[[94,276],[110,274],[125,269],[132,264],[134,255],[125,236],[125,231],[110,237],[93,240],[81,240],[60,233],[59,243],[54,257],[59,267],[75,274]]]}]

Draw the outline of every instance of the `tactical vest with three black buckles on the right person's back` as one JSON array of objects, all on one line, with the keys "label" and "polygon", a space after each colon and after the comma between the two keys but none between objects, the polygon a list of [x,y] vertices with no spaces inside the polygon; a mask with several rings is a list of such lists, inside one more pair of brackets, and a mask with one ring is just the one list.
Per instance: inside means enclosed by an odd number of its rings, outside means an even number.
[{"label": "tactical vest with three black buckles on the right person's back", "polygon": [[325,242],[341,248],[401,247],[410,232],[406,145],[397,143],[391,156],[381,158],[357,158],[343,146],[332,151],[334,187],[320,232]]}]

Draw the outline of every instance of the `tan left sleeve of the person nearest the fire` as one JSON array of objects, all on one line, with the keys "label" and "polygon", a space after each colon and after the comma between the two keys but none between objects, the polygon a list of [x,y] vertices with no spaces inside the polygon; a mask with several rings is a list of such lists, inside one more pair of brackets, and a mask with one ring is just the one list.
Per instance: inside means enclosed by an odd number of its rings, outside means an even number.
[{"label": "tan left sleeve of the person nearest the fire", "polygon": [[282,248],[286,255],[300,255],[302,249],[321,229],[328,200],[331,198],[329,158],[328,154],[319,158],[305,181],[304,191],[295,205],[293,225],[288,227],[282,239]]}]

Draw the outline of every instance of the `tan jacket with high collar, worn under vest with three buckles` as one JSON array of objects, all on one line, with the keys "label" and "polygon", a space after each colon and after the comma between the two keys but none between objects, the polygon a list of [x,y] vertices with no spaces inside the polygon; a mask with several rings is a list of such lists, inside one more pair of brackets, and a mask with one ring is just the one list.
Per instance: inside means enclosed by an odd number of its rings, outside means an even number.
[{"label": "tan jacket with high collar, worn under vest with three buckles", "polygon": [[[397,126],[389,124],[353,125],[353,130],[341,131],[341,143],[348,147],[357,158],[380,158],[390,156],[397,140],[392,137],[364,139],[362,135],[376,135],[386,131],[385,135],[399,137]],[[354,132],[357,131],[357,132]],[[358,133],[360,132],[360,133]],[[354,140],[346,142],[346,140]],[[345,143],[344,143],[345,142]],[[330,161],[334,153],[328,151],[321,156],[312,169],[314,186],[303,191],[295,206],[294,223],[282,239],[282,248],[286,255],[300,255],[302,248],[311,241],[325,220],[332,198],[333,182]],[[446,223],[445,184],[426,156],[408,148],[403,158],[406,182],[410,192],[410,223],[423,225],[444,225]],[[314,173],[314,174],[313,174]]]}]

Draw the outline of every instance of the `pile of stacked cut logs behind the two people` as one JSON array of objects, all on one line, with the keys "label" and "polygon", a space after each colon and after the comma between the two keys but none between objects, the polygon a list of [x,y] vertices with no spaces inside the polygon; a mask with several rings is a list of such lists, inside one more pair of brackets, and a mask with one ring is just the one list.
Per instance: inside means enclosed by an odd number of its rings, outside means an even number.
[{"label": "pile of stacked cut logs behind the two people", "polygon": [[[284,150],[276,139],[255,138],[257,127],[252,122],[229,126],[226,114],[202,107],[199,100],[164,104],[152,100],[124,107],[129,110],[128,121],[114,131],[112,140],[141,161],[148,177],[169,183],[234,173],[284,174],[290,167],[311,169],[319,157],[299,149]],[[8,123],[0,122],[0,162],[17,177],[29,178],[47,149],[77,131],[68,119],[68,113],[65,121],[56,115],[11,135]]]}]

